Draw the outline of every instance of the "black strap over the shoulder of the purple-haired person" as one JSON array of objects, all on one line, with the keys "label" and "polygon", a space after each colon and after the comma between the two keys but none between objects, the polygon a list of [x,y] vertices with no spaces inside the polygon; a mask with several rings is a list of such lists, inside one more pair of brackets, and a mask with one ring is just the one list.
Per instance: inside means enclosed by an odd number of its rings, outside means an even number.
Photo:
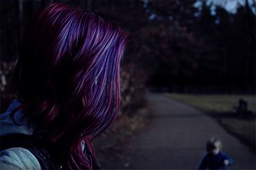
[{"label": "black strap over the shoulder of the purple-haired person", "polygon": [[47,150],[36,143],[33,136],[26,134],[1,136],[0,151],[14,147],[21,147],[29,150],[29,152],[35,155],[36,159],[40,163],[41,169],[62,169],[62,166],[60,166],[60,164],[51,157]]}]

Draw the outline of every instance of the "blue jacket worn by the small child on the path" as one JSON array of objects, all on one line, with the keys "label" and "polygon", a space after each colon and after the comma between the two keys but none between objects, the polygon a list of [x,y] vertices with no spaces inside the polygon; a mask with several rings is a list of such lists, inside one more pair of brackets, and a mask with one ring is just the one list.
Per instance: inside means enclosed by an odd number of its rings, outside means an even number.
[{"label": "blue jacket worn by the small child on the path", "polygon": [[227,166],[224,164],[225,159],[229,161],[228,166],[234,162],[234,160],[228,157],[228,155],[224,152],[220,152],[217,155],[208,153],[205,155],[198,169],[227,169]]}]

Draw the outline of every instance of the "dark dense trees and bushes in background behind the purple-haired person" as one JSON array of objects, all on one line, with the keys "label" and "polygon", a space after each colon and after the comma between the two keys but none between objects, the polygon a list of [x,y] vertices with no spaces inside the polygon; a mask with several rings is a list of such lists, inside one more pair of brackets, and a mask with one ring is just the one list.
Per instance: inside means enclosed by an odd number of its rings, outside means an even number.
[{"label": "dark dense trees and bushes in background behind the purple-haired person", "polygon": [[[245,0],[244,0],[245,1]],[[29,18],[56,1],[0,1],[1,111],[9,103],[22,31]],[[128,33],[122,60],[122,108],[140,106],[145,87],[171,92],[255,93],[255,14],[228,13],[202,1],[58,1],[94,11]]]}]

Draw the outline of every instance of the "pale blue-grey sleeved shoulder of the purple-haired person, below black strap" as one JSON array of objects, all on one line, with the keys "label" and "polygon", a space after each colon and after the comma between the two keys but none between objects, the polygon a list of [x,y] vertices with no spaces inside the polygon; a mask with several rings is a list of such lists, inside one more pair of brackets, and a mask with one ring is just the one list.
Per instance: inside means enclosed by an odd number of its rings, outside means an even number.
[{"label": "pale blue-grey sleeved shoulder of the purple-haired person, below black strap", "polygon": [[0,152],[0,169],[41,169],[41,166],[29,150],[14,147]]}]

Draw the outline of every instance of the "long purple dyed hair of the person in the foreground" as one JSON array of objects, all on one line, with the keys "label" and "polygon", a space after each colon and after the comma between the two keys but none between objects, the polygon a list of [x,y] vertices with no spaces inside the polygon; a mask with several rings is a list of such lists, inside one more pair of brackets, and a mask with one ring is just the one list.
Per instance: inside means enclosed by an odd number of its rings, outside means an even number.
[{"label": "long purple dyed hair of the person in the foreground", "polygon": [[[120,106],[120,60],[127,34],[118,24],[53,3],[31,20],[24,34],[13,87],[34,136],[70,169],[93,169],[92,140],[115,120]],[[57,149],[56,149],[57,150]]]}]

